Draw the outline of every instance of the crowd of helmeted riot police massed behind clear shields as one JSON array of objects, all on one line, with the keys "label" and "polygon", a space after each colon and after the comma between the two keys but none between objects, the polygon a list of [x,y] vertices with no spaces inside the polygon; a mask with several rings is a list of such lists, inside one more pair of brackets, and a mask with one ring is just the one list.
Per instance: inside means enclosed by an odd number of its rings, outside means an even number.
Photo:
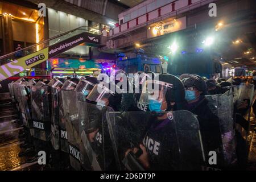
[{"label": "crowd of helmeted riot police massed behind clear shields", "polygon": [[251,105],[251,85],[209,94],[208,82],[197,75],[128,77],[117,70],[109,80],[21,78],[9,89],[26,131],[24,146],[34,151],[28,162],[44,151],[47,169],[240,168],[234,107]]}]

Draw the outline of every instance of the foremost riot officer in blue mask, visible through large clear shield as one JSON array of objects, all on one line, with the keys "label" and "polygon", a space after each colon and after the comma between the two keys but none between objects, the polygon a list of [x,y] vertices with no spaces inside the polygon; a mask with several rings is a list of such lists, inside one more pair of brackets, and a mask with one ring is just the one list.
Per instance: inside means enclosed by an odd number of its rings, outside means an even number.
[{"label": "foremost riot officer in blue mask, visible through large clear shield", "polygon": [[[147,87],[150,84],[152,84],[152,90]],[[194,120],[188,117],[188,115],[192,116],[192,113],[180,110],[183,109],[185,102],[185,89],[182,82],[173,75],[163,74],[157,76],[155,80],[147,81],[144,90],[146,91],[142,92],[139,102],[148,104],[152,113],[126,112],[120,115],[122,119],[119,123],[121,122],[121,125],[117,128],[119,130],[117,133],[121,137],[118,142],[118,145],[121,146],[119,157],[123,158],[122,152],[125,152],[123,164],[130,170],[185,169],[189,163],[184,165],[183,162],[187,159],[180,155],[183,153],[181,152],[183,147],[178,142],[179,137],[176,134],[179,126],[176,123],[183,123],[185,118],[189,118],[191,123]],[[196,119],[195,121],[197,122]],[[197,144],[200,145],[200,137],[196,138],[198,139]],[[194,142],[189,140],[191,143]],[[133,142],[129,144],[129,141]],[[195,151],[191,150],[190,152],[193,154]],[[202,151],[196,153],[201,158],[197,162],[203,162],[202,156],[200,156]],[[196,155],[194,158],[199,159]]]}]

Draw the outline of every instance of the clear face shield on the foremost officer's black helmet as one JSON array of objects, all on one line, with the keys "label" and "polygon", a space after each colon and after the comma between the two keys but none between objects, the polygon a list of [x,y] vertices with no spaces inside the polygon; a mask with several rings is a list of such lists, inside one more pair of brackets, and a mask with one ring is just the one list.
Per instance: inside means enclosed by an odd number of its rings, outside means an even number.
[{"label": "clear face shield on the foremost officer's black helmet", "polygon": [[150,104],[152,100],[163,102],[166,98],[168,88],[173,88],[172,84],[158,80],[148,80],[142,89],[139,104]]}]

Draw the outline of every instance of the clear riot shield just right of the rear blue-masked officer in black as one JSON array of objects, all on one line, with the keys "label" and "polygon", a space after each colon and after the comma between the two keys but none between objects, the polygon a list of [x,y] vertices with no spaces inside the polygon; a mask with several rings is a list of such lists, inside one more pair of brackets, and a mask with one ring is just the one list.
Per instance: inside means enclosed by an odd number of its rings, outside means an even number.
[{"label": "clear riot shield just right of the rear blue-masked officer in black", "polygon": [[229,90],[224,94],[205,96],[205,98],[208,100],[210,110],[218,117],[220,125],[222,151],[218,151],[220,156],[218,160],[220,165],[218,167],[222,169],[232,167],[237,162],[233,119],[233,92]]}]

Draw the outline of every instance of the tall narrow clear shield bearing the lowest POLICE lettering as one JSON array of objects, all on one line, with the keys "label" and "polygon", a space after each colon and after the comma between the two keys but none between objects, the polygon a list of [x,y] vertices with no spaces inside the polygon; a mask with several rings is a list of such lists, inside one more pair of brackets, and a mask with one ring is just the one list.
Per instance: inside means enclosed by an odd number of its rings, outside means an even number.
[{"label": "tall narrow clear shield bearing the lowest POLICE lettering", "polygon": [[79,135],[79,110],[77,105],[77,92],[62,91],[65,127],[67,130],[69,160],[71,166],[79,171],[81,169]]}]

